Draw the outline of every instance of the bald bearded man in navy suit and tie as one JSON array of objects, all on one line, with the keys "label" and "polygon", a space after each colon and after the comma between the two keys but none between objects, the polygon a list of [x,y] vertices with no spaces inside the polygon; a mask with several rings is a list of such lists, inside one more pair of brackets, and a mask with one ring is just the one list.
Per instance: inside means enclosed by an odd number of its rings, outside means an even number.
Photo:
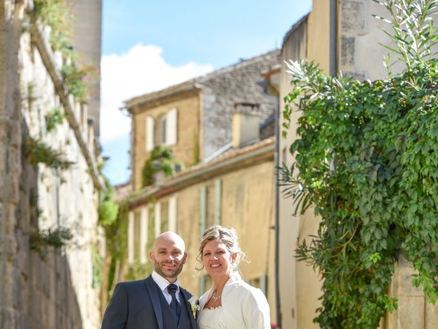
[{"label": "bald bearded man in navy suit and tie", "polygon": [[188,300],[179,287],[185,244],[174,232],[157,236],[149,258],[154,270],[148,278],[116,285],[103,315],[102,329],[197,329]]}]

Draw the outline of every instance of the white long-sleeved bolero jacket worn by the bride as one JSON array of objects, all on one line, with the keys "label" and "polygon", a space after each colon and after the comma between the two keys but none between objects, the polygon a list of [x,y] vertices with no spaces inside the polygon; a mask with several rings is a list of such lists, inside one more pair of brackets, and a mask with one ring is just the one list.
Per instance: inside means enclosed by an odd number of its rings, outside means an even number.
[{"label": "white long-sleeved bolero jacket worn by the bride", "polygon": [[[213,286],[199,299],[200,313],[215,290]],[[250,286],[238,273],[233,273],[224,286],[222,323],[227,329],[270,329],[270,310],[260,289]]]}]

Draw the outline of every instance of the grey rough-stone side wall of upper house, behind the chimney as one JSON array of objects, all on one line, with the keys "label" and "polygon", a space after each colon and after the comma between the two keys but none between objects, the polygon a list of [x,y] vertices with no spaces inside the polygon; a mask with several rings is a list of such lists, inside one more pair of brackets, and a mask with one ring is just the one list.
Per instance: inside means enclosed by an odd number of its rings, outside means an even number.
[{"label": "grey rough-stone side wall of upper house, behind the chimney", "polygon": [[264,121],[274,113],[276,97],[265,93],[261,73],[280,63],[280,51],[270,51],[196,79],[203,86],[203,158],[232,141],[236,104],[253,104],[250,114]]}]

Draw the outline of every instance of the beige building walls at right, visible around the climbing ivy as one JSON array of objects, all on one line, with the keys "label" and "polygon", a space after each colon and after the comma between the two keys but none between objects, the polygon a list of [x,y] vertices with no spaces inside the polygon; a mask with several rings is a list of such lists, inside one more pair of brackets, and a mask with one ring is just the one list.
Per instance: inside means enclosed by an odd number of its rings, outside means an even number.
[{"label": "beige building walls at right, visible around the climbing ivy", "polygon": [[[368,0],[313,0],[313,8],[287,32],[283,40],[283,61],[313,60],[328,75],[339,71],[359,80],[376,80],[386,77],[383,57],[387,50],[379,45],[389,45],[383,32],[387,25],[375,19],[385,17],[383,6]],[[393,72],[400,66],[393,66]],[[281,68],[280,109],[284,97],[290,93],[290,75],[285,65]],[[296,139],[298,113],[294,112],[286,139],[279,139],[279,163],[294,162],[289,146]],[[279,126],[282,119],[280,116]],[[313,324],[315,310],[320,306],[320,282],[317,273],[305,263],[294,258],[292,250],[297,243],[318,232],[318,218],[313,209],[304,215],[292,217],[292,199],[279,203],[279,284],[282,328],[318,328]],[[382,328],[436,328],[437,308],[430,306],[420,289],[411,284],[412,269],[400,258],[396,266],[391,292],[398,298],[399,308],[383,321]],[[287,287],[287,289],[285,288]]]}]

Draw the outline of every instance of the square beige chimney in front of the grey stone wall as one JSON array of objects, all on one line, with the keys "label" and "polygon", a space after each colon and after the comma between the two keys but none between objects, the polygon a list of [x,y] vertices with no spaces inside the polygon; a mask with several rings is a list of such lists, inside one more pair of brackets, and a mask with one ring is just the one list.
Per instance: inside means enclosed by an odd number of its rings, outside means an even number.
[{"label": "square beige chimney in front of the grey stone wall", "polygon": [[[259,141],[260,118],[248,113],[253,104],[236,104],[233,114],[233,147],[240,148]],[[256,106],[258,108],[258,105]],[[246,110],[246,111],[245,111]]]}]

